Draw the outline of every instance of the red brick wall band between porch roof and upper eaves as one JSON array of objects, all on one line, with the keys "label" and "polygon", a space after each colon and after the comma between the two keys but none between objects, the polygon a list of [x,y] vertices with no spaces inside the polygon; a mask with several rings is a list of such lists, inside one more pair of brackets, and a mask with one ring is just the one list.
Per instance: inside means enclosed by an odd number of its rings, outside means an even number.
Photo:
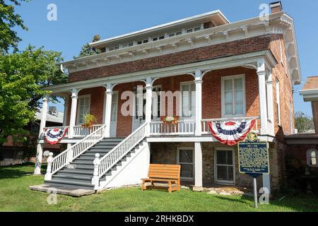
[{"label": "red brick wall band between porch roof and upper eaves", "polygon": [[121,64],[112,64],[96,69],[70,73],[69,82],[89,80],[115,76],[123,73],[133,73],[150,69],[159,69],[179,64],[189,64],[196,61],[215,59],[218,57],[229,57],[237,54],[246,54],[269,49],[271,35],[251,37],[245,40],[237,40],[222,44],[214,44],[208,47],[190,49],[174,54],[166,54],[159,57],[150,57],[136,61],[129,61]]}]

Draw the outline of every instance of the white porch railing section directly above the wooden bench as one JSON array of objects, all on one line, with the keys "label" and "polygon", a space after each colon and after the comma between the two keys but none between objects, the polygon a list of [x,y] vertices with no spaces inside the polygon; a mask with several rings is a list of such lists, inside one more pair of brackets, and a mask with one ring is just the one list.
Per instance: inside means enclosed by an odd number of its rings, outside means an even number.
[{"label": "white porch railing section directly above the wooden bench", "polygon": [[194,135],[195,120],[182,120],[178,124],[164,124],[163,121],[151,121],[151,136]]}]

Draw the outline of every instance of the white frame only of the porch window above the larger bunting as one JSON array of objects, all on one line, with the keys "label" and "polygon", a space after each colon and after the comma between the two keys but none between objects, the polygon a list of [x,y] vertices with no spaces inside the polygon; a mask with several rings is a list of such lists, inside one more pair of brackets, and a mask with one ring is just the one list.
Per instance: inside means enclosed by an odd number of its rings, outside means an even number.
[{"label": "white frame only of the porch window above the larger bunting", "polygon": [[[242,83],[243,83],[243,114],[225,114],[225,80],[234,80],[236,78],[242,78]],[[232,83],[234,85],[234,83]],[[234,90],[232,90],[234,91]],[[233,102],[235,100],[234,95],[235,93],[232,93],[233,95]],[[246,116],[246,89],[245,89],[245,74],[241,75],[236,75],[236,76],[223,76],[221,78],[221,112],[222,112],[222,117],[245,117]],[[234,105],[233,105],[234,106]],[[235,109],[235,107],[233,108]]]}]

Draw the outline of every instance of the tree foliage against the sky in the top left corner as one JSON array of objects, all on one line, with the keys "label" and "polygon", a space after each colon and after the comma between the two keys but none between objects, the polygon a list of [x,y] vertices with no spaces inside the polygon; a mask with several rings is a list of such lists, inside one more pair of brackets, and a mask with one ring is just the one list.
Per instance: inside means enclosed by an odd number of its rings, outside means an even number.
[{"label": "tree foliage against the sky in the top left corner", "polygon": [[[12,4],[6,4],[6,2]],[[23,24],[20,15],[15,13],[15,6],[20,6],[20,2],[29,0],[0,0],[0,54],[6,54],[9,49],[13,52],[18,51],[18,42],[21,38],[18,37],[17,32],[13,30],[18,26],[23,30],[28,30]]]}]

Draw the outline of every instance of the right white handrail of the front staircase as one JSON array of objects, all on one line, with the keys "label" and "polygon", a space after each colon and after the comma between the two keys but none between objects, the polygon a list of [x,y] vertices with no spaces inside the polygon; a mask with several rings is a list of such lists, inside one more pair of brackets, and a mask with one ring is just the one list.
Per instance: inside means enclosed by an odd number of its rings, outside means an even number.
[{"label": "right white handrail of the front staircase", "polygon": [[119,160],[129,153],[129,151],[146,138],[147,126],[148,123],[141,125],[139,129],[136,129],[134,133],[127,136],[124,141],[119,143],[116,147],[110,150],[107,155],[100,159],[100,164],[98,166],[98,178],[107,173],[107,171],[116,165]]}]

